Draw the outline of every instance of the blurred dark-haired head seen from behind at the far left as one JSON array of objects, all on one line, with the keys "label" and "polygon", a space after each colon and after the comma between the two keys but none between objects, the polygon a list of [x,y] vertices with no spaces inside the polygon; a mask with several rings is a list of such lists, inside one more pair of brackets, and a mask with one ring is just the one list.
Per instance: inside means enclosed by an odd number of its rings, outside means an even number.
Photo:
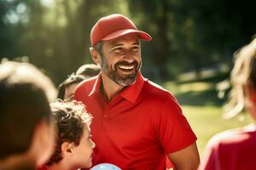
[{"label": "blurred dark-haired head seen from behind at the far left", "polygon": [[20,156],[35,164],[49,159],[55,137],[49,100],[55,94],[49,77],[34,65],[0,65],[0,160]]}]

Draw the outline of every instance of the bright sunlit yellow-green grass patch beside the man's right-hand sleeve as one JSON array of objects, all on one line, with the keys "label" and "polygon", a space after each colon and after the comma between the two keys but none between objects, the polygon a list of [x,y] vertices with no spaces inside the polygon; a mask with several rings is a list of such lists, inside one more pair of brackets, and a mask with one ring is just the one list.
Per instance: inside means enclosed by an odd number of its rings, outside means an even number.
[{"label": "bright sunlit yellow-green grass patch beside the man's right-hand sleeve", "polygon": [[216,106],[182,105],[182,107],[184,115],[188,118],[188,121],[198,138],[197,145],[200,155],[202,155],[207,141],[212,135],[233,127],[243,127],[250,122],[248,116],[240,116],[225,120],[222,118],[221,108]]}]

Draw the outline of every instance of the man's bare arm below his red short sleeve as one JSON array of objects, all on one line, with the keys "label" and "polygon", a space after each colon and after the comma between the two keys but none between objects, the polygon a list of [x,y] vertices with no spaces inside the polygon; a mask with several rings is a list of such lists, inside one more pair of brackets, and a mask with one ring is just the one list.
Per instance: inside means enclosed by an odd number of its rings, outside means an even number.
[{"label": "man's bare arm below his red short sleeve", "polygon": [[168,154],[168,157],[177,170],[196,170],[200,162],[196,143]]}]

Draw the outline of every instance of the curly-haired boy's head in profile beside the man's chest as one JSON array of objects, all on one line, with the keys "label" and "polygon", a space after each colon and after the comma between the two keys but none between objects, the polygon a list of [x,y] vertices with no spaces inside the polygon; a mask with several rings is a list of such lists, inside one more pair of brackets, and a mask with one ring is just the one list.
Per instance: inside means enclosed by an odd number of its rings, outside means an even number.
[{"label": "curly-haired boy's head in profile beside the man's chest", "polygon": [[46,165],[61,163],[68,169],[91,167],[95,144],[90,139],[91,116],[77,101],[58,100],[51,104],[55,116],[55,152]]}]

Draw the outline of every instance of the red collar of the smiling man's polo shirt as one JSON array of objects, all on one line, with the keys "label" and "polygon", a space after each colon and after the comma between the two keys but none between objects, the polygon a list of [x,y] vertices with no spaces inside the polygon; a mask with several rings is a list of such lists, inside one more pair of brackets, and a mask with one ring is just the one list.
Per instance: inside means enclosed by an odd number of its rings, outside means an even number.
[{"label": "red collar of the smiling man's polo shirt", "polygon": [[[127,88],[124,88],[118,95],[122,96],[123,98],[135,103],[137,100],[138,95],[141,93],[144,84],[144,78],[141,72],[138,72],[137,80]],[[97,78],[96,82],[94,83],[93,88],[90,91],[89,96],[93,94],[100,94],[100,89],[102,85],[102,73],[100,73]]]}]

